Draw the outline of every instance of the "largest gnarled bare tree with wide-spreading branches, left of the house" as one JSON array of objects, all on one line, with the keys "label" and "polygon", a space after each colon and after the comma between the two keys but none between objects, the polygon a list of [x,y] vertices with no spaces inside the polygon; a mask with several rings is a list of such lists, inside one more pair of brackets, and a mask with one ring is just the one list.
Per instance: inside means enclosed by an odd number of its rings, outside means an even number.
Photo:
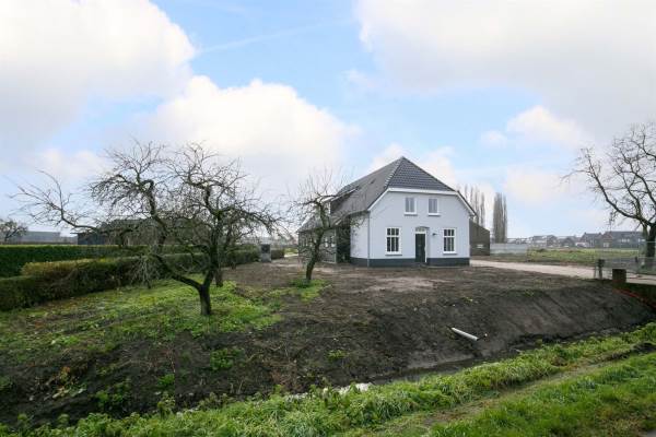
[{"label": "largest gnarled bare tree with wide-spreading branches, left of the house", "polygon": [[[19,187],[24,211],[39,222],[112,234],[119,241],[139,235],[149,246],[145,257],[195,288],[200,312],[210,315],[212,281],[222,284],[221,268],[244,233],[276,226],[271,205],[246,184],[236,162],[223,163],[197,144],[171,150],[137,143],[107,156],[112,168],[81,190],[82,202],[49,176],[49,187]],[[200,280],[165,256],[167,245],[191,258]]]}]

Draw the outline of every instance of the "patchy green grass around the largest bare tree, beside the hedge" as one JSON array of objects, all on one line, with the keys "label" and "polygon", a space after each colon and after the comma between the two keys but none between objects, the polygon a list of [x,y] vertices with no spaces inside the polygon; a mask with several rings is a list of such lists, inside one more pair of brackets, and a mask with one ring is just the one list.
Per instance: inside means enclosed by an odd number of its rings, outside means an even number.
[{"label": "patchy green grass around the largest bare tree, beside the hedge", "polygon": [[39,356],[108,352],[130,340],[261,329],[280,319],[276,302],[244,296],[234,282],[213,287],[211,299],[213,315],[200,316],[195,290],[164,281],[151,290],[126,287],[0,312],[0,355],[20,365]]}]

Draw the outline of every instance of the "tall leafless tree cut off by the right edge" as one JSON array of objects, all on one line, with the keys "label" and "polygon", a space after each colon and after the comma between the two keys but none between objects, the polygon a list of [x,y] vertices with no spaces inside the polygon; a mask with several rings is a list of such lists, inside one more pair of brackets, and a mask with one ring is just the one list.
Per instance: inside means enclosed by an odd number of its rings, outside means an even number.
[{"label": "tall leafless tree cut off by the right edge", "polygon": [[[599,156],[600,155],[600,156]],[[606,153],[581,151],[571,175],[583,175],[589,189],[609,210],[609,223],[630,220],[646,237],[645,256],[653,260],[656,241],[656,123],[633,125],[613,139]],[[649,261],[653,262],[653,261]]]}]

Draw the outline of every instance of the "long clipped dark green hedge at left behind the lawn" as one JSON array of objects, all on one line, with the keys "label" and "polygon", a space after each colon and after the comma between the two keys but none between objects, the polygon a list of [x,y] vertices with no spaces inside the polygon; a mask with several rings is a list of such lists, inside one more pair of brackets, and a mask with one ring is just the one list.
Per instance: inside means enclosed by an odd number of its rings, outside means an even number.
[{"label": "long clipped dark green hedge at left behind the lawn", "polygon": [[[190,255],[165,257],[178,269],[195,270]],[[239,249],[233,257],[237,264],[253,262],[259,259],[259,251]],[[142,283],[147,271],[151,279],[167,276],[157,263],[144,263],[139,257],[28,263],[22,270],[23,275],[0,279],[0,310]]]}]

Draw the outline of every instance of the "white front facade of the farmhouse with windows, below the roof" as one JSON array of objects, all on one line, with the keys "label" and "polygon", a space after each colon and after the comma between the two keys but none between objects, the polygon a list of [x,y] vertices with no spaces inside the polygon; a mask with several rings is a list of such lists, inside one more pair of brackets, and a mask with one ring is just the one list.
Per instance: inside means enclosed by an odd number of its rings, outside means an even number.
[{"label": "white front facade of the farmhouse with windows, below the roof", "polygon": [[471,214],[455,191],[389,188],[352,224],[351,260],[366,265],[414,263],[419,233],[425,234],[422,262],[468,263]]}]

